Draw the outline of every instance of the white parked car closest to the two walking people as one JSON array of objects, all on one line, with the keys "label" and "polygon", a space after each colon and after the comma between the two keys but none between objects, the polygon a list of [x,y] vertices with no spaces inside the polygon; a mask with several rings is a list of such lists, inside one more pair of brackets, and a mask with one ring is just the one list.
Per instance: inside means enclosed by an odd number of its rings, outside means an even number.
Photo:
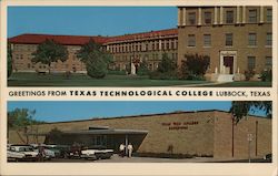
[{"label": "white parked car closest to the two walking people", "polygon": [[88,147],[81,151],[81,158],[86,159],[108,159],[113,155],[113,149],[101,149]]}]

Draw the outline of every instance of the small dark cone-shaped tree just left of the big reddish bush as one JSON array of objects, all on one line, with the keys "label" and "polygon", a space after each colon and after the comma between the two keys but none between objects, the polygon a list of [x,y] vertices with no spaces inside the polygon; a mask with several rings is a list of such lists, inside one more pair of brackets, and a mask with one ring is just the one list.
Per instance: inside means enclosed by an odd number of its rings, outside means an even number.
[{"label": "small dark cone-shaped tree just left of the big reddish bush", "polygon": [[158,64],[158,72],[168,73],[176,70],[176,63],[168,56],[167,53],[162,54],[162,60]]}]

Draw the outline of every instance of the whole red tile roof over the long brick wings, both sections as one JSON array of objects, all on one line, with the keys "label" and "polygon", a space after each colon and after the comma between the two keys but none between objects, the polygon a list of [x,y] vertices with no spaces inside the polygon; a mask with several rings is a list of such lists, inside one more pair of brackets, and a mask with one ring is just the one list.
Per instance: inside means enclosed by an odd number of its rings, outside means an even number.
[{"label": "whole red tile roof over the long brick wings, both sections", "polygon": [[97,43],[103,44],[107,42],[119,42],[119,41],[126,41],[126,40],[177,35],[177,34],[178,34],[177,29],[132,33],[132,34],[118,35],[118,37],[82,37],[82,35],[52,35],[52,34],[24,33],[21,35],[10,38],[9,42],[18,43],[18,44],[39,44],[39,43],[44,42],[47,39],[50,39],[64,45],[82,45],[87,43],[90,39],[95,40],[95,42]]}]

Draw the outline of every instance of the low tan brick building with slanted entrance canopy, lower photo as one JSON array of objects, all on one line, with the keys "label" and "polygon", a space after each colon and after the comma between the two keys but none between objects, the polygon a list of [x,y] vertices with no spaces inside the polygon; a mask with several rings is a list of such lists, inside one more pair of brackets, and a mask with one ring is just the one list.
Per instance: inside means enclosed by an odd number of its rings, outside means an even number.
[{"label": "low tan brick building with slanted entrance canopy, lower photo", "polygon": [[271,118],[244,117],[235,124],[224,111],[172,112],[137,116],[46,123],[10,131],[9,143],[52,143],[49,132],[62,132],[60,144],[102,146],[116,152],[132,143],[137,154],[182,154],[215,158],[252,158],[271,153]]}]

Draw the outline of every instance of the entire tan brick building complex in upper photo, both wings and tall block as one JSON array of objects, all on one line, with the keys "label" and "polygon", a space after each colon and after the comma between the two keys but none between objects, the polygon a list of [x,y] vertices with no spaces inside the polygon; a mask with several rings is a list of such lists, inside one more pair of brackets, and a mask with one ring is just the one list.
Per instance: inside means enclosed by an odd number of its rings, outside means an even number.
[{"label": "entire tan brick building complex in upper photo, both wings and tall block", "polygon": [[111,70],[136,74],[138,65],[146,61],[153,71],[163,53],[181,68],[186,54],[198,53],[210,56],[207,80],[239,81],[245,80],[247,73],[257,80],[262,71],[272,68],[272,9],[178,7],[177,29],[118,37],[21,34],[9,39],[13,70],[48,70],[48,65],[31,62],[31,53],[46,39],[67,45],[70,53],[68,61],[51,64],[54,72],[86,72],[86,65],[77,59],[76,52],[92,39],[112,54]]}]

